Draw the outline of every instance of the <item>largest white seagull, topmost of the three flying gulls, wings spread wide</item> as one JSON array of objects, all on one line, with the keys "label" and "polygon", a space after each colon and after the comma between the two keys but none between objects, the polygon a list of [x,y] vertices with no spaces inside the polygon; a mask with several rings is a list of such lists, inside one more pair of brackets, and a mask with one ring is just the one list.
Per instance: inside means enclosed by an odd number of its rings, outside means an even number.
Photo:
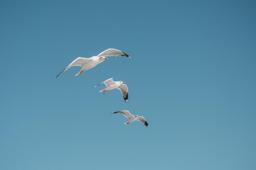
[{"label": "largest white seagull, topmost of the three flying gulls, wings spread wide", "polygon": [[[61,73],[68,70],[72,66],[80,66],[82,68],[75,76],[77,76],[79,74],[83,74],[86,70],[89,70],[89,69],[97,66],[98,64],[102,63],[103,61],[108,60],[108,58],[106,58],[107,56],[126,56],[126,57],[130,58],[129,55],[127,55],[126,53],[124,53],[120,50],[107,49],[107,50],[99,53],[97,56],[92,56],[90,58],[83,58],[83,57],[76,58],[76,60],[71,62],[63,71],[61,71]],[[59,73],[54,79],[56,79],[61,73]]]}]

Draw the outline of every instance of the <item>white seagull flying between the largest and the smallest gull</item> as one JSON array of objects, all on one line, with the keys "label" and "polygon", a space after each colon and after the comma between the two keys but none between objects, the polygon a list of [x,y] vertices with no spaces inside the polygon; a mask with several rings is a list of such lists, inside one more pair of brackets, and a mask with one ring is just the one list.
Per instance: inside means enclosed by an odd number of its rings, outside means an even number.
[{"label": "white seagull flying between the largest and the smallest gull", "polygon": [[[123,97],[124,97],[124,101],[127,102],[128,101],[128,87],[126,86],[126,84],[124,84],[125,82],[119,81],[119,82],[114,82],[113,78],[111,79],[107,79],[104,82],[98,84],[97,86],[101,85],[101,84],[105,84],[106,88],[104,88],[103,90],[99,91],[100,93],[103,92],[103,94],[107,93],[108,91],[111,91],[115,88],[117,88],[119,91],[121,91]],[[94,86],[93,88],[97,87]]]}]

